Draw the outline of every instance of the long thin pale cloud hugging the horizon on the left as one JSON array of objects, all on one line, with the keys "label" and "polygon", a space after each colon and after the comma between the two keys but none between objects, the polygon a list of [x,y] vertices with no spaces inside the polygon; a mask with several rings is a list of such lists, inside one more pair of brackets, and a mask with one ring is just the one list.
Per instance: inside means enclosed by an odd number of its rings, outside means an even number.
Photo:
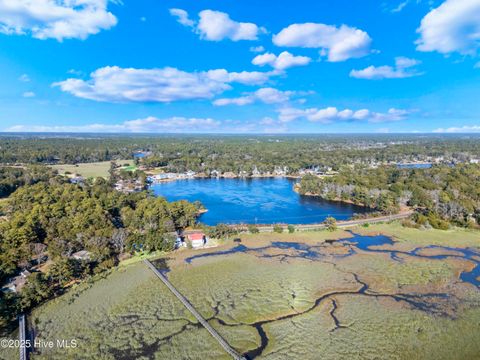
[{"label": "long thin pale cloud hugging the horizon on the left", "polygon": [[124,121],[120,124],[88,124],[78,126],[28,126],[15,125],[8,132],[197,132],[210,131],[220,126],[211,118],[170,117],[159,119],[149,116],[143,119]]}]

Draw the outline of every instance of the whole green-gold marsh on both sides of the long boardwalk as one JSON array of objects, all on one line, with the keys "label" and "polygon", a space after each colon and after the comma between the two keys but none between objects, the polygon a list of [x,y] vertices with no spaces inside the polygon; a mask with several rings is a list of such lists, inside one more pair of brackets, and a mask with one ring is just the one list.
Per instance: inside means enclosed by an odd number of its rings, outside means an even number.
[{"label": "whole green-gold marsh on both sides of the long boardwalk", "polygon": [[[478,359],[480,289],[459,281],[472,263],[382,251],[439,244],[480,252],[480,233],[398,224],[354,232],[398,242],[363,251],[325,243],[352,236],[343,230],[242,235],[245,251],[226,241],[168,255],[168,277],[235,349],[258,358]],[[78,286],[32,319],[43,339],[80,340],[80,349],[33,359],[228,358],[142,263]]]}]

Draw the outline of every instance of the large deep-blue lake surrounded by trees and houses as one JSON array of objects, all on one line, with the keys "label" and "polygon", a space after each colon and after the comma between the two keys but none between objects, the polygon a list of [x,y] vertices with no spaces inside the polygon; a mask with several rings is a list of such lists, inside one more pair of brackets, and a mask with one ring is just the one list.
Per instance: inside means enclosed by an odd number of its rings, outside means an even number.
[{"label": "large deep-blue lake surrounded by trees and houses", "polygon": [[295,182],[286,178],[194,179],[154,184],[157,196],[169,201],[200,201],[208,212],[199,221],[207,225],[312,224],[328,216],[346,220],[362,207],[329,202],[293,191]]}]

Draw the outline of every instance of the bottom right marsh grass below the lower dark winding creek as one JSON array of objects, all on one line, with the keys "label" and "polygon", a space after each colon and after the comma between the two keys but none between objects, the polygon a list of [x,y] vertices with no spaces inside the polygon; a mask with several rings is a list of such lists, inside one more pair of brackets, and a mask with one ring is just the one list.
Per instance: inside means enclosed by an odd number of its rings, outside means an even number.
[{"label": "bottom right marsh grass below the lower dark winding creek", "polygon": [[[272,341],[265,359],[478,359],[478,309],[456,319],[406,310],[394,300],[337,296],[336,316],[345,328],[334,329],[331,303],[266,326]],[[333,331],[332,331],[333,330]]]}]

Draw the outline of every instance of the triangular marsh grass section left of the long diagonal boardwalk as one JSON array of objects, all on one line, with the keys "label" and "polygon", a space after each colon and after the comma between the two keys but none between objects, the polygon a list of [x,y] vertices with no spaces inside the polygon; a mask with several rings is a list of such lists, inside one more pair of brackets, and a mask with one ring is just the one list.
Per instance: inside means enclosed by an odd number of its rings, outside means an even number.
[{"label": "triangular marsh grass section left of the long diagonal boardwalk", "polygon": [[[47,303],[34,311],[32,323],[42,339],[77,339],[79,343],[76,349],[41,351],[33,359],[141,358],[165,354],[165,347],[171,347],[165,344],[175,342],[182,346],[176,351],[175,346],[171,348],[171,358],[184,358],[190,351],[223,354],[143,263],[121,268]],[[160,341],[174,334],[178,335]],[[177,339],[184,336],[201,340]]]}]

